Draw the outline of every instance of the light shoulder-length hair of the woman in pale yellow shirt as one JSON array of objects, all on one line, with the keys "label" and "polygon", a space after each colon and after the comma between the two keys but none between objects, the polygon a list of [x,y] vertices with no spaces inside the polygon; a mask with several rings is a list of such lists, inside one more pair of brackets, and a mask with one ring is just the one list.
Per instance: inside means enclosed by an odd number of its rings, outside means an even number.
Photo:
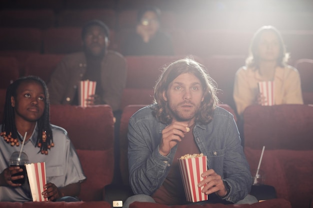
[{"label": "light shoulder-length hair of the woman in pale yellow shirt", "polygon": [[249,47],[249,56],[245,60],[246,66],[258,68],[259,57],[257,55],[257,48],[258,48],[261,35],[265,31],[271,31],[275,33],[275,35],[277,36],[278,43],[279,43],[279,56],[277,58],[277,64],[281,67],[285,66],[286,62],[288,61],[289,54],[286,53],[286,48],[283,43],[280,32],[273,26],[262,26],[254,33],[251,43],[250,43],[250,47]]}]

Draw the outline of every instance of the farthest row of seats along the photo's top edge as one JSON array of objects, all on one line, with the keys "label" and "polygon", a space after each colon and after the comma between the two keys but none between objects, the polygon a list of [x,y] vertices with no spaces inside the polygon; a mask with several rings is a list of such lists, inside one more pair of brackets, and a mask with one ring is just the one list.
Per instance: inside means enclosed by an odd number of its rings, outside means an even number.
[{"label": "farthest row of seats along the photo's top edge", "polygon": [[251,3],[250,0],[1,0],[3,8],[138,8],[145,5],[155,5],[161,9],[235,9],[235,10],[285,10],[310,11],[312,2],[309,0],[259,0]]}]

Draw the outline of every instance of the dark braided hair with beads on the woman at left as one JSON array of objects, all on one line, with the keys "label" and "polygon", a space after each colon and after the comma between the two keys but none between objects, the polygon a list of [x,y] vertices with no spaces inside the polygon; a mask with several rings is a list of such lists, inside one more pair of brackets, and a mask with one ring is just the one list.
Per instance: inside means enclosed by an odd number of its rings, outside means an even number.
[{"label": "dark braided hair with beads on the woman at left", "polygon": [[[16,90],[18,86],[23,82],[37,82],[42,86],[44,90],[44,111],[42,116],[37,120],[38,135],[35,146],[40,148],[38,153],[40,152],[41,154],[47,155],[48,149],[53,147],[54,144],[52,138],[52,130],[50,126],[48,91],[45,82],[39,77],[21,77],[8,86],[5,95],[4,114],[0,136],[2,136],[7,143],[10,143],[11,146],[18,146],[19,142],[22,141],[19,134],[17,133],[17,129],[15,126],[15,111],[14,107],[12,107],[11,105],[11,97],[13,96],[14,99],[16,99]],[[40,134],[40,132],[42,134]]]}]

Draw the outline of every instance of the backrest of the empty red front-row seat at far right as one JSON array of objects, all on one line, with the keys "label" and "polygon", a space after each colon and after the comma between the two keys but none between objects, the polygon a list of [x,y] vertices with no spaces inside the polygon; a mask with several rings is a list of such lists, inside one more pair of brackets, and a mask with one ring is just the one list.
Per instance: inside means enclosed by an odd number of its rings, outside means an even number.
[{"label": "backrest of the empty red front-row seat at far right", "polygon": [[312,150],[313,106],[248,106],[243,112],[244,147]]}]

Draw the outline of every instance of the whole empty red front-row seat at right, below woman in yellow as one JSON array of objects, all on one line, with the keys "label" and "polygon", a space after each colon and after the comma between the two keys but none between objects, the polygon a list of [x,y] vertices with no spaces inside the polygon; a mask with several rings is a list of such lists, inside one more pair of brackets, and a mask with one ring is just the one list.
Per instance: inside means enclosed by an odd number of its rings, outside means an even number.
[{"label": "whole empty red front-row seat at right, below woman in yellow", "polygon": [[[293,208],[308,208],[313,194],[312,126],[309,105],[253,105],[243,112],[244,153],[250,170],[257,169],[265,146],[260,165],[265,184]],[[295,178],[301,180],[294,182]]]}]

